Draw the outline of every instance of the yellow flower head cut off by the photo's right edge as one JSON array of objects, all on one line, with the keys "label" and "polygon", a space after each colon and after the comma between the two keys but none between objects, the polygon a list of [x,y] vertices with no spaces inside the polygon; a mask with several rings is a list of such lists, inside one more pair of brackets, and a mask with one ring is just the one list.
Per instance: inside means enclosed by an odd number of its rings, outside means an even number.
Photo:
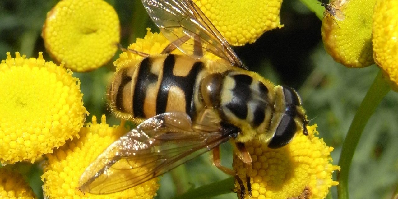
[{"label": "yellow flower head cut off by the photo's right edge", "polygon": [[377,0],[373,14],[373,57],[398,92],[398,2]]}]

